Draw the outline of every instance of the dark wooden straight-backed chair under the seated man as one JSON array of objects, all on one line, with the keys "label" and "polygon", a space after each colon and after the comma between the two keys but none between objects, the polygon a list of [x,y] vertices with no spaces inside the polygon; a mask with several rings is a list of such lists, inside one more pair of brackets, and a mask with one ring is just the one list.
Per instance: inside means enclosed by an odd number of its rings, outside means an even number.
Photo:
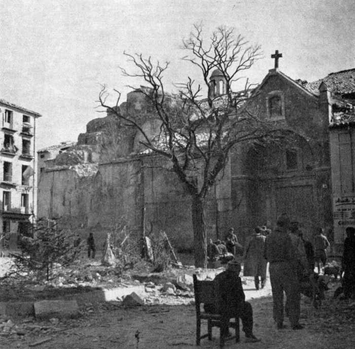
[{"label": "dark wooden straight-backed chair under the seated man", "polygon": [[[218,309],[218,294],[214,281],[197,280],[197,275],[193,274],[195,306],[196,306],[196,345],[200,345],[200,340],[208,337],[212,340],[212,327],[220,328],[220,347],[223,348],[224,342],[235,338],[239,342],[239,317],[235,317],[235,322],[229,322],[228,327],[235,329],[235,336],[224,337],[222,335],[222,316],[216,313],[201,311],[201,304],[212,304],[214,309]],[[201,336],[201,320],[207,320],[207,333]]]}]

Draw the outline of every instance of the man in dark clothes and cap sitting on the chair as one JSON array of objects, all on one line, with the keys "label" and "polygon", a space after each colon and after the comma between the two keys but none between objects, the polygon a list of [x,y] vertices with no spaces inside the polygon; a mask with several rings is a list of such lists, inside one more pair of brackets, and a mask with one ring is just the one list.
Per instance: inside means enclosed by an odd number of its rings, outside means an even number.
[{"label": "man in dark clothes and cap sitting on the chair", "polygon": [[[245,295],[239,277],[240,264],[233,260],[228,262],[226,271],[215,277],[216,294],[218,295],[218,313],[222,315],[222,333],[228,336],[228,323],[235,315],[239,316],[245,332],[245,342],[259,342],[253,334],[253,309],[245,302]],[[239,321],[239,319],[236,319]]]}]

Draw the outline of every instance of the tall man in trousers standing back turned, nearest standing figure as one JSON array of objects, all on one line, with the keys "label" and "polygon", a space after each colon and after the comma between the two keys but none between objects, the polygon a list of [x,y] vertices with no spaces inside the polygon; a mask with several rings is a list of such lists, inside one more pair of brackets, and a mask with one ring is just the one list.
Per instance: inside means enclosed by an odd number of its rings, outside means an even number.
[{"label": "tall man in trousers standing back turned, nearest standing figure", "polygon": [[303,328],[300,319],[300,288],[297,280],[296,254],[288,234],[290,219],[281,215],[276,228],[265,239],[264,258],[270,263],[273,318],[283,328],[283,291],[286,293],[289,319],[293,330]]}]

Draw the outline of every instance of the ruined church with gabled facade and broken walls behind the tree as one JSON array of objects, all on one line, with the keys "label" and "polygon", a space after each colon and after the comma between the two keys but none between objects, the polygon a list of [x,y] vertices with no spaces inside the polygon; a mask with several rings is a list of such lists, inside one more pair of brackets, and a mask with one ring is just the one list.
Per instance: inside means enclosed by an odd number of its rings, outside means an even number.
[{"label": "ruined church with gabled facade and broken walls behind the tree", "polygon": [[[232,149],[207,198],[210,237],[224,238],[233,226],[243,242],[255,226],[272,227],[278,215],[287,213],[308,238],[318,227],[325,228],[332,252],[340,253],[342,233],[333,229],[329,125],[341,106],[353,105],[354,76],[355,69],[350,69],[308,83],[279,68],[269,71],[247,108],[297,134],[297,147]],[[214,72],[210,79],[214,93],[222,94],[223,77]],[[160,121],[143,93],[128,93],[118,108],[123,115],[136,115],[148,136],[159,133]],[[77,144],[40,173],[38,216],[61,217],[85,232],[102,232],[125,217],[139,231],[145,212],[149,231],[164,230],[175,247],[191,248],[191,196],[164,169],[165,160],[141,148],[141,136],[109,112],[90,121]]]}]

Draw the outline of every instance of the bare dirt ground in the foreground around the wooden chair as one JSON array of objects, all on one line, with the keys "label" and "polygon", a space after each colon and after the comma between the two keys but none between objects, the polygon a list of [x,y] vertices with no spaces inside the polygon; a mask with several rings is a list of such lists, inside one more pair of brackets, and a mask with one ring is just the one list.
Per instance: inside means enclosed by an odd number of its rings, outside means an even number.
[{"label": "bare dirt ground in the foreground around the wooden chair", "polygon": [[[182,270],[187,272],[188,270]],[[191,271],[191,270],[190,270]],[[190,272],[189,271],[189,272]],[[111,276],[110,276],[111,277]],[[301,323],[304,329],[291,330],[288,319],[286,329],[277,330],[272,319],[272,294],[269,280],[265,289],[256,291],[253,278],[244,280],[246,300],[254,310],[254,333],[259,343],[244,343],[241,331],[240,343],[227,342],[226,348],[272,348],[272,349],[350,349],[355,347],[355,301],[333,300],[334,290],[340,281],[329,284],[326,300],[319,309],[302,296]],[[11,293],[8,288],[2,292]],[[13,298],[4,295],[3,299]],[[20,298],[22,298],[21,295]],[[41,297],[42,298],[42,297]],[[84,304],[81,316],[53,323],[28,319],[0,319],[0,323],[12,321],[16,331],[0,332],[0,349],[187,349],[195,346],[196,317],[193,298],[162,295],[159,305],[125,308],[121,302]],[[177,304],[177,305],[170,305]],[[184,304],[184,305],[182,305]],[[205,332],[206,324],[202,331]],[[47,341],[45,341],[47,340]],[[201,348],[218,348],[219,332],[213,330],[213,340],[201,341]]]}]

